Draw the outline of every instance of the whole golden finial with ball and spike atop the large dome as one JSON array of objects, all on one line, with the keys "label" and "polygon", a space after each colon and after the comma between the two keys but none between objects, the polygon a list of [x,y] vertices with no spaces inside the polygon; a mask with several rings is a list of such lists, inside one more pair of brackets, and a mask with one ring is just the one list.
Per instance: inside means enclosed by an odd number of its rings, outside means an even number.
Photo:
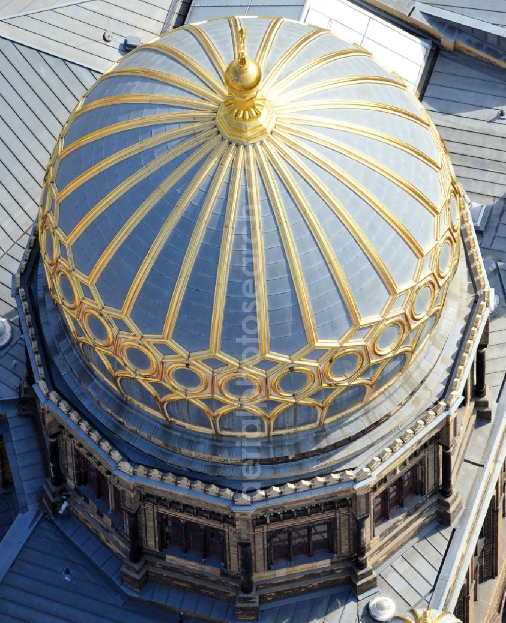
[{"label": "whole golden finial with ball and spike atop the large dome", "polygon": [[225,70],[229,95],[218,109],[217,125],[226,138],[245,145],[269,135],[275,119],[274,110],[259,93],[262,70],[246,55],[246,30],[241,28],[237,34],[237,58]]}]

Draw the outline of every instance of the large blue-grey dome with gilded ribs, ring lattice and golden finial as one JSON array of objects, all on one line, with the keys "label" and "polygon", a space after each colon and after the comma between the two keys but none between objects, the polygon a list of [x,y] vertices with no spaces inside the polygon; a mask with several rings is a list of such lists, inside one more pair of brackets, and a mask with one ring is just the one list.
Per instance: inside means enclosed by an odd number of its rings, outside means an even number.
[{"label": "large blue-grey dome with gilded ribs, ring lattice and golden finial", "polygon": [[365,49],[217,19],[87,92],[45,177],[42,257],[115,391],[192,429],[284,434],[413,361],[456,268],[458,193],[426,111]]}]

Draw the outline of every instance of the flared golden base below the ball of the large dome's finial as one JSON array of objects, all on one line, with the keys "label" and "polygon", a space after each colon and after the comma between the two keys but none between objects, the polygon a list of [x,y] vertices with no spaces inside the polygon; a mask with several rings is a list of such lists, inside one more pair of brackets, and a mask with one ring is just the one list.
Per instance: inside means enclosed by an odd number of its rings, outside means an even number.
[{"label": "flared golden base below the ball of the large dome's finial", "polygon": [[229,97],[222,102],[216,115],[216,123],[222,135],[239,145],[251,145],[264,140],[275,126],[274,108],[264,97],[252,98],[251,105]]}]

